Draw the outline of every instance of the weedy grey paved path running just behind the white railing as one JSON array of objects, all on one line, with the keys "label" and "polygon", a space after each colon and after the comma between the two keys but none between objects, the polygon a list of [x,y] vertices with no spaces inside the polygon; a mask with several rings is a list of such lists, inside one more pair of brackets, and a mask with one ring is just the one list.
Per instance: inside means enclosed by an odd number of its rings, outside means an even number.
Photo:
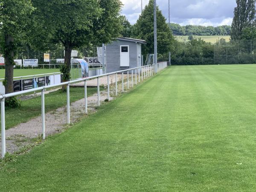
[{"label": "weedy grey paved path running just behind the white railing", "polygon": [[[127,87],[127,81],[125,82],[125,87]],[[131,88],[131,82],[130,82]],[[118,91],[121,92],[121,84],[118,84]],[[111,89],[110,100],[115,97],[115,90]],[[98,96],[95,93],[93,96],[87,98],[88,102],[88,114],[96,112]],[[104,102],[107,99],[107,91],[100,92],[100,102]],[[84,99],[73,102],[70,105],[70,122],[75,123],[79,121],[82,117],[86,116]],[[19,151],[26,145],[35,144],[41,135],[41,116],[29,120],[26,123],[21,123],[9,130],[6,130],[6,152],[14,153]],[[50,111],[45,114],[45,135],[60,133],[67,125],[67,107],[58,108],[55,111]],[[1,137],[0,137],[1,138]],[[0,143],[1,147],[1,143]],[[0,148],[1,150],[1,148]]]}]

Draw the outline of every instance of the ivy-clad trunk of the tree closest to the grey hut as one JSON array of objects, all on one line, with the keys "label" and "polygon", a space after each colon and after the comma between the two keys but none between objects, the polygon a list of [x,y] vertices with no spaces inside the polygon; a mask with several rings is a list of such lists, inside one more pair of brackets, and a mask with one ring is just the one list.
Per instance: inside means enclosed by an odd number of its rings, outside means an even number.
[{"label": "ivy-clad trunk of the tree closest to the grey hut", "polygon": [[[73,46],[70,42],[65,43],[65,56],[64,56],[64,65],[66,70],[64,70],[62,81],[66,82],[70,80],[70,66],[71,66],[71,52],[72,52]],[[67,70],[68,69],[68,70]],[[62,91],[66,90],[67,86],[62,86]]]}]

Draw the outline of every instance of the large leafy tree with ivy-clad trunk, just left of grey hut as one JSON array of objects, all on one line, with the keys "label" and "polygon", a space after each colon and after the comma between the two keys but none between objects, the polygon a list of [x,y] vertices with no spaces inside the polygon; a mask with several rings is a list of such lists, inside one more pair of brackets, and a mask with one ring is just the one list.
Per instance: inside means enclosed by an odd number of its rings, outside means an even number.
[{"label": "large leafy tree with ivy-clad trunk, just left of grey hut", "polygon": [[[40,35],[65,48],[63,80],[70,79],[71,52],[90,43],[108,43],[119,35],[120,0],[32,0]],[[37,35],[38,37],[38,35]],[[35,37],[35,39],[37,38]],[[37,39],[37,41],[39,41]]]}]

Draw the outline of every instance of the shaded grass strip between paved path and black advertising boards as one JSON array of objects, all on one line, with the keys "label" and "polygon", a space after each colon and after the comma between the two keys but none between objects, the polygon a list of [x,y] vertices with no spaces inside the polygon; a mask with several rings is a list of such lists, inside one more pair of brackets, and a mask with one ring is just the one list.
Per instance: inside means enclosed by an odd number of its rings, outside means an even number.
[{"label": "shaded grass strip between paved path and black advertising boards", "polygon": [[[97,88],[87,88],[87,95],[97,92]],[[75,102],[84,97],[84,89],[80,87],[70,88],[70,102]],[[49,112],[67,105],[67,93],[61,90],[45,95],[45,112]],[[6,109],[6,129],[12,128],[23,122],[41,115],[41,96],[21,101],[21,107]]]}]

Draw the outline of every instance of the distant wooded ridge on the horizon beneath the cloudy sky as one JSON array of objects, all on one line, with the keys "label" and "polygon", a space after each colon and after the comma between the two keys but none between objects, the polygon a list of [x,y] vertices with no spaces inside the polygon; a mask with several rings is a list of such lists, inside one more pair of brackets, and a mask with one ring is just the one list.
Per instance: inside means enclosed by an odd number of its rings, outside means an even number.
[{"label": "distant wooded ridge on the horizon beneath the cloudy sky", "polygon": [[230,35],[231,26],[198,26],[198,25],[186,25],[180,26],[177,23],[170,23],[170,28],[173,35],[200,35],[200,36],[212,36],[212,35]]}]

